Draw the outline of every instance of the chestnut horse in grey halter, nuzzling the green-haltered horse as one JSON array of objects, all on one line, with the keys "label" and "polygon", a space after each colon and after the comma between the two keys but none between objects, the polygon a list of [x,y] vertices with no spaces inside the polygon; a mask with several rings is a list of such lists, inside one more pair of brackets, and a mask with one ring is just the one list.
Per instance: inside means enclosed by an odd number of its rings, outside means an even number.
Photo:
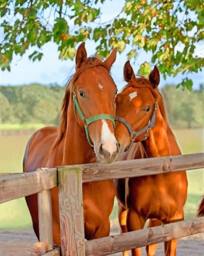
[{"label": "chestnut horse in grey halter, nuzzling the green-haltered horse", "polygon": [[[164,102],[157,87],[160,74],[155,66],[149,79],[136,78],[130,62],[124,66],[124,79],[128,83],[116,97],[115,136],[120,143],[120,155],[134,143],[123,159],[180,155],[176,139],[167,123]],[[120,117],[119,119],[117,117]],[[135,132],[138,131],[138,132]],[[119,202],[119,220],[122,232],[139,230],[150,219],[149,227],[184,219],[187,197],[186,171],[116,181]],[[165,242],[165,255],[176,255],[177,240]],[[155,255],[157,244],[146,247],[148,256]],[[123,255],[128,255],[124,252]],[[132,250],[141,255],[141,249]]]}]

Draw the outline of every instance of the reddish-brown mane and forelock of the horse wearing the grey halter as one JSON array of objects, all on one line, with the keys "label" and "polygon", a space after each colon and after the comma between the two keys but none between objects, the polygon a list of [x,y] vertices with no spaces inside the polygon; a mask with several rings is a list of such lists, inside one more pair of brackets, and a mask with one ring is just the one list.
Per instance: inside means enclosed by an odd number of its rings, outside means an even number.
[{"label": "reddish-brown mane and forelock of the horse wearing the grey halter", "polygon": [[152,85],[150,84],[149,79],[147,79],[146,77],[144,77],[144,75],[136,75],[134,78],[132,78],[130,80],[130,82],[124,87],[124,89],[126,89],[127,87],[134,87],[134,88],[148,88],[150,89],[152,95],[154,96],[158,107],[160,109],[161,115],[164,118],[164,121],[166,123],[166,127],[168,132],[174,136],[172,129],[170,128],[168,121],[167,121],[167,117],[166,117],[166,110],[165,110],[165,105],[164,105],[164,99],[160,93],[160,91],[158,90],[158,88],[156,87],[155,89],[152,87]]}]

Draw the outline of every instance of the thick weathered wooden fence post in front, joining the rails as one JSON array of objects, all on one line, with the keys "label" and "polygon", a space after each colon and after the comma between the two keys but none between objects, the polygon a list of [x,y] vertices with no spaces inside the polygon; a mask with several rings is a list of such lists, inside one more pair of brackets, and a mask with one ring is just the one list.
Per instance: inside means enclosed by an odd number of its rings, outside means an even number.
[{"label": "thick weathered wooden fence post in front, joining the rails", "polygon": [[82,171],[58,170],[62,256],[85,256]]}]

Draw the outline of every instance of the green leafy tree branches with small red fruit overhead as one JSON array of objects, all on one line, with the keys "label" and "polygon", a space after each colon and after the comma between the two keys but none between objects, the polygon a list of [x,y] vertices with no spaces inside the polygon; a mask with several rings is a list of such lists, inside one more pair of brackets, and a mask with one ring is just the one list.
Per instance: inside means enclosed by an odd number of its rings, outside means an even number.
[{"label": "green leafy tree branches with small red fruit overhead", "polygon": [[[0,0],[0,67],[10,70],[14,54],[23,56],[35,46],[29,58],[41,60],[41,47],[58,44],[61,59],[73,59],[78,42],[97,42],[96,52],[104,57],[116,46],[122,52],[131,45],[128,59],[142,49],[153,54],[151,63],[160,72],[198,72],[204,60],[195,54],[195,44],[204,39],[204,4],[197,0],[126,0],[112,20],[100,22],[100,6],[107,0]],[[149,73],[143,63],[139,73]],[[178,87],[192,88],[186,77]]]}]

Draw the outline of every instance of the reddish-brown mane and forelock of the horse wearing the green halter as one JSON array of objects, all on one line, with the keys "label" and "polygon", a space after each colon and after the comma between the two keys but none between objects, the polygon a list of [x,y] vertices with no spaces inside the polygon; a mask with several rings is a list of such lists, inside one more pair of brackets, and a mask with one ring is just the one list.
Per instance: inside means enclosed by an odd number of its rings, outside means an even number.
[{"label": "reddish-brown mane and forelock of the horse wearing the green halter", "polygon": [[77,80],[79,75],[87,68],[102,66],[108,70],[108,67],[104,62],[101,61],[101,59],[102,58],[100,58],[100,56],[92,56],[87,58],[83,66],[80,67],[73,75],[71,75],[68,78],[68,81],[65,87],[64,98],[62,100],[62,105],[60,110],[60,125],[58,127],[58,135],[56,137],[56,140],[54,141],[54,144],[52,145],[51,150],[54,149],[66,135],[67,111],[68,111],[68,106],[70,102],[70,90],[72,88],[72,85]]}]

